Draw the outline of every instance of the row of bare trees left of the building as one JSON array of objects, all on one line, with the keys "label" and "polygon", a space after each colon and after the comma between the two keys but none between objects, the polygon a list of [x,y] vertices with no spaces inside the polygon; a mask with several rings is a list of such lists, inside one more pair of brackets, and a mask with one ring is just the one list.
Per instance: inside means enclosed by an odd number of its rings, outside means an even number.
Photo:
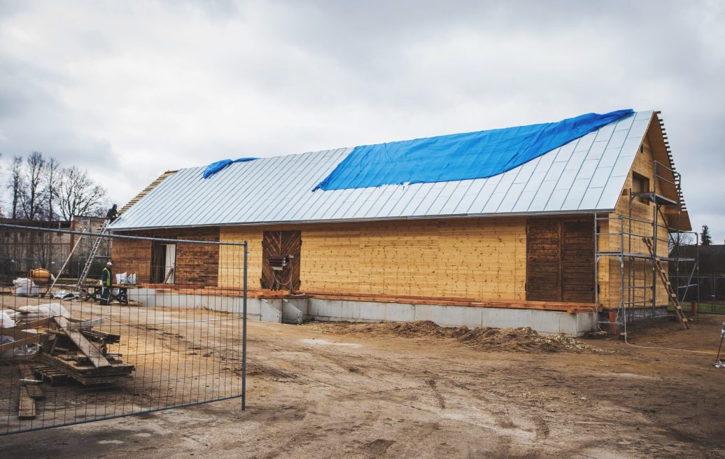
[{"label": "row of bare trees left of the building", "polygon": [[9,164],[8,202],[0,216],[14,220],[71,220],[73,215],[105,215],[106,189],[88,171],[62,167],[53,157],[32,152]]}]

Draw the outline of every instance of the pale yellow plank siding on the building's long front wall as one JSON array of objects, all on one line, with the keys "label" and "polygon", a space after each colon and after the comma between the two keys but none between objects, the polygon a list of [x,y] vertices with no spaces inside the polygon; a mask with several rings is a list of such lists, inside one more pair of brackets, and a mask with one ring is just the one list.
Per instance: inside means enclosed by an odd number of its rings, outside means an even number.
[{"label": "pale yellow plank siding on the building's long front wall", "polygon": [[[260,288],[264,231],[301,230],[301,291],[523,301],[526,219],[467,218],[223,227],[249,241],[249,287]],[[221,286],[240,286],[239,247],[220,248]]]}]

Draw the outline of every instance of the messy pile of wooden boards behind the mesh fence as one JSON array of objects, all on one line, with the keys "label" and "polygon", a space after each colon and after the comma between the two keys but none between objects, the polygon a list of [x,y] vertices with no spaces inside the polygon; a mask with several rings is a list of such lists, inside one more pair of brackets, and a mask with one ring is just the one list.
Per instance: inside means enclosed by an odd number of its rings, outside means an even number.
[{"label": "messy pile of wooden boards behind the mesh fence", "polygon": [[132,376],[134,366],[108,349],[120,342],[120,335],[94,329],[102,322],[103,318],[83,321],[67,314],[0,328],[0,335],[14,338],[0,344],[0,354],[24,350],[22,357],[11,359],[20,370],[19,418],[35,418],[35,400],[45,396],[43,382],[56,386],[73,379],[84,386],[107,386]]}]

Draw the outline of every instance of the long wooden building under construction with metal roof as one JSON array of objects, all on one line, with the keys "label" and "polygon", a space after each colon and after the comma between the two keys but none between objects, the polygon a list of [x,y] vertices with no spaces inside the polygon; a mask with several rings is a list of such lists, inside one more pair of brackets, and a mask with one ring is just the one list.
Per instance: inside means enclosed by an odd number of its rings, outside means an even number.
[{"label": "long wooden building under construction with metal roof", "polygon": [[[691,226],[659,112],[213,166],[161,175],[110,230],[248,241],[249,311],[263,319],[289,308],[579,336],[666,315],[688,288],[668,265],[695,268],[668,255]],[[138,298],[208,286],[207,305],[241,288],[241,247],[185,247],[117,239],[112,258]]]}]

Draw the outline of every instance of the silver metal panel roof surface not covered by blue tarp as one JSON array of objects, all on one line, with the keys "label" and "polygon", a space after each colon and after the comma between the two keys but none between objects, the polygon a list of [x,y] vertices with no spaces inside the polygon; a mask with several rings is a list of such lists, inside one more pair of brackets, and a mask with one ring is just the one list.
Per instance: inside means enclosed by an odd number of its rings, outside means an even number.
[{"label": "silver metal panel roof surface not covered by blue tarp", "polygon": [[315,190],[352,148],[181,169],[112,230],[613,211],[653,112],[637,112],[500,175]]}]

